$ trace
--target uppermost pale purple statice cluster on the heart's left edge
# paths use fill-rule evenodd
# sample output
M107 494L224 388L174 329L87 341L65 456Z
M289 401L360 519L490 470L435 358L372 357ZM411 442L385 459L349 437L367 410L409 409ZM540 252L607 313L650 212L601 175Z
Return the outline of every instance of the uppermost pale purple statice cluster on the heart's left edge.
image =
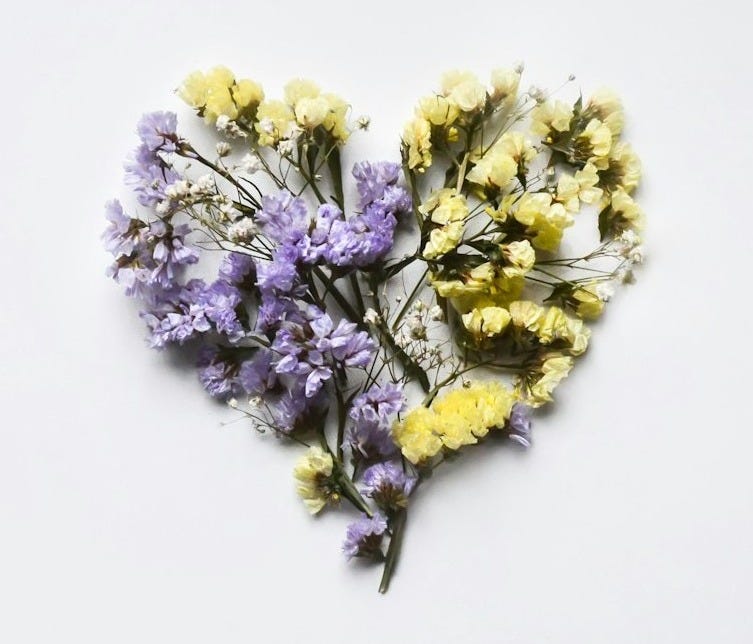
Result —
M145 114L136 131L141 143L126 163L126 183L131 186L142 206L166 209L167 187L181 175L167 160L178 146L178 120L173 112Z

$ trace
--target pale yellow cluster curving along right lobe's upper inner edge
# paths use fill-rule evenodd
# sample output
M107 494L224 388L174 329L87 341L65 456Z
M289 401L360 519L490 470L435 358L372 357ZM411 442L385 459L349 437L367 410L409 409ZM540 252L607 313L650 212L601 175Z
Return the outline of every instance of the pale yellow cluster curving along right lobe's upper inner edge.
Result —
M490 88L471 72L447 72L439 93L422 98L414 118L405 125L403 157L408 167L424 172L432 164L435 145L457 141L458 125L482 113L509 110L517 100L519 84L519 69L495 69Z

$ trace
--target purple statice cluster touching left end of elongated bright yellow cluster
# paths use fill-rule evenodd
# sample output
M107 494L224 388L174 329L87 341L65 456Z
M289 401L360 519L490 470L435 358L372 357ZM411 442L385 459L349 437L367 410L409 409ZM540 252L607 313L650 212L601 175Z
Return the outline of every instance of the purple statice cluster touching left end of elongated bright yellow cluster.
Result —
M356 461L374 462L394 456L391 417L402 411L405 396L402 387L387 383L373 385L356 396L349 411L351 425L345 437Z

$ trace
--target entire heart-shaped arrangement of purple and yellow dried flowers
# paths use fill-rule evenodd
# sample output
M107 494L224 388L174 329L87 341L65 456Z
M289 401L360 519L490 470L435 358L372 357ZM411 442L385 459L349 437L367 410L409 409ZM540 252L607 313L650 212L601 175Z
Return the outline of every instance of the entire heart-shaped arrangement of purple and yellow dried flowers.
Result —
M300 444L298 494L312 514L358 513L343 551L383 563L382 592L416 488L470 445L530 444L584 320L642 259L619 100L522 93L521 72L445 74L400 163L353 166L352 203L341 150L367 118L310 81L270 100L226 68L195 72L178 94L214 149L146 114L126 164L142 216L106 207L109 274L151 345L194 352L210 395ZM563 251L576 220L593 239Z

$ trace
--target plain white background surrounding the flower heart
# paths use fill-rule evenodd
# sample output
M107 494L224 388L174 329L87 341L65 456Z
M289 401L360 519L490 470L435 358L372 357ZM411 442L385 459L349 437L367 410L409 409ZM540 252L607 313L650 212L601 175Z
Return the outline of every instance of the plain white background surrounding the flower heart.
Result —
M422 3L423 4L423 3ZM753 641L747 3L23 2L0 26L0 641ZM297 452L146 349L102 205L143 111L224 63L316 78L396 157L440 73L609 84L649 257L536 419L414 498L387 596Z

